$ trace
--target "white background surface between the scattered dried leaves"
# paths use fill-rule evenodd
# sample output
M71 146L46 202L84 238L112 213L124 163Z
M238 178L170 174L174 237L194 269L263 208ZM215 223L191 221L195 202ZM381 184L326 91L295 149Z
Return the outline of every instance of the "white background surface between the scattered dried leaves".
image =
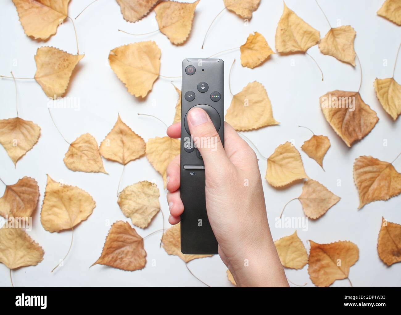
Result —
M91 0L71 1L69 15L72 17L83 9ZM376 12L383 0L320 0L330 23L336 27L350 24L356 30L355 50L363 68L363 84L360 94L363 100L377 112L380 120L372 132L362 141L348 148L335 134L324 119L319 107L319 96L328 91L340 89L355 91L358 89L360 74L359 64L353 68L334 57L320 53L318 46L308 52L316 59L324 72L321 81L320 72L314 62L304 54L290 56L273 55L270 60L255 69L243 68L239 50L221 54L217 57L225 61L225 109L231 95L228 75L233 59L237 61L231 74L231 90L237 93L249 82L257 80L267 89L273 107L274 118L279 126L245 132L264 156L269 156L274 149L286 141L294 140L300 146L312 134L298 125L306 125L315 134L330 138L323 165L320 166L300 150L308 176L328 187L341 197L341 201L332 207L317 221L309 221L308 231L298 229L298 235L309 251L308 239L317 243L331 243L349 240L358 245L360 256L350 269L350 279L355 287L360 286L400 286L401 264L387 267L377 254L377 237L381 226L381 217L390 222L401 223L401 197L389 201L370 203L357 211L358 192L352 179L354 159L360 155L372 155L382 161L391 162L401 151L401 119L393 122L383 110L376 98L373 81L376 77L392 76L395 54L400 43L399 26L377 16ZM316 2L313 0L287 0L286 4L311 26L320 31L323 37L329 30L328 23ZM108 65L109 51L117 46L141 40L154 40L162 51L160 74L180 76L181 61L184 58L206 58L221 50L239 47L245 43L249 33L260 32L269 45L275 49L275 30L282 15L281 0L262 0L249 25L233 12L223 12L213 24L207 37L205 48L201 50L203 36L207 27L223 9L223 1L201 0L196 8L192 32L182 46L174 46L160 32L146 36L130 36L117 29L132 33L146 33L156 30L154 12L151 12L135 24L126 22L120 8L113 0L99 0L90 6L76 21L80 53L85 57L79 62L71 78L66 96L80 98L81 109L53 109L57 126L72 142L86 132L95 136L100 143L117 120L117 113L136 133L145 140L155 136L165 136L165 127L154 118L138 116L137 113L154 114L166 124L174 117L177 94L170 83L171 79L159 78L152 91L144 100L135 98L127 92L124 84L117 78ZM57 34L47 42L38 42L28 38L23 30L14 4L2 1L0 29L0 74L10 75L12 70L18 77L33 77L36 71L34 54L41 46L49 45L76 54L75 35L71 21L65 20L59 26ZM384 60L388 66L384 66ZM292 62L294 66L292 66ZM15 64L16 63L16 64ZM395 79L401 81L401 60L395 72ZM180 78L174 84L180 88ZM0 118L16 116L14 82L0 80ZM145 239L147 265L141 271L122 271L106 266L89 266L97 260L105 237L109 230L107 223L117 220L130 221L122 214L116 201L118 181L123 166L103 159L109 175L102 173L73 172L63 163L68 145L57 132L47 109L47 97L34 80L18 80L18 102L20 117L32 120L41 127L38 143L17 163L16 169L3 147L0 147L0 177L7 184L14 184L24 176L30 176L38 182L41 196L38 209L33 215L33 229L29 235L45 250L44 260L35 267L13 271L16 286L203 286L186 270L184 262L177 256L169 256L159 248L161 233ZM387 139L388 146L383 146ZM294 229L276 229L274 219L279 216L284 204L302 192L302 184L296 184L285 190L277 190L264 179L267 163L259 154L259 167L263 178L263 188L267 204L267 214L273 239L290 235ZM401 159L394 163L401 171ZM46 186L46 174L56 181L78 186L87 191L96 201L93 214L75 229L74 243L62 268L54 273L50 271L64 257L68 250L71 232L49 233L40 223L40 209ZM338 179L341 186L337 186ZM160 203L168 227L168 205L163 190L162 177L152 168L146 157L132 161L126 166L121 189L138 181L153 181L160 189ZM4 191L0 186L0 194ZM285 211L289 216L303 216L298 201L293 201ZM162 228L162 216L158 214L146 230L136 228L143 237ZM152 266L152 260L156 266ZM188 267L203 281L215 286L231 286L227 281L227 268L219 256L191 261ZM297 284L308 283L308 266L302 270L286 270L288 279ZM0 264L0 285L10 286L8 269ZM347 280L336 281L333 286L348 287Z

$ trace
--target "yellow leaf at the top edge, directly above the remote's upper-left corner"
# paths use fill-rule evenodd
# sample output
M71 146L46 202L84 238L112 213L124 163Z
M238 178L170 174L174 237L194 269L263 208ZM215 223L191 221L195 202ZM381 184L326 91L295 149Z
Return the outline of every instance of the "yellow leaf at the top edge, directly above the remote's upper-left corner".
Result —
M188 38L198 3L199 0L193 3L163 1L154 8L159 30L172 44L182 44Z

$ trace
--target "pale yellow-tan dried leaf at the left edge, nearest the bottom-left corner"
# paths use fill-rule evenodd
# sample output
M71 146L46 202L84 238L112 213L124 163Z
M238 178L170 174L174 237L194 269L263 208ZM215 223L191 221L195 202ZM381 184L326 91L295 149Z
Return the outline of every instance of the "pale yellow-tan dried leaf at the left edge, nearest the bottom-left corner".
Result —
M0 263L10 269L36 266L43 261L45 252L21 228L0 229Z

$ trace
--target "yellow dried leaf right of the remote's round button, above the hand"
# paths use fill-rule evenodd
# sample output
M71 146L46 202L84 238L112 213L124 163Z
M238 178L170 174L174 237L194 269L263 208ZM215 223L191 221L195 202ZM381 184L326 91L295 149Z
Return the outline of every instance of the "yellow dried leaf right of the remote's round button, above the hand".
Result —
M241 92L233 96L225 120L239 131L279 124L273 118L265 87L257 81L248 83Z

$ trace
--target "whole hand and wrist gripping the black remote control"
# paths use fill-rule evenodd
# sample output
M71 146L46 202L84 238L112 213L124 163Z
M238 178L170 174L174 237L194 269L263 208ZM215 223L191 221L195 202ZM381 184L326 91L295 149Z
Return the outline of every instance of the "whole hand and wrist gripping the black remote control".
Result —
M224 148L211 119L201 108L188 113L188 126L205 163L207 215L219 243L219 255L238 286L288 286L267 222L257 158L225 122ZM180 138L181 123L168 127ZM213 139L212 141L210 139ZM202 145L201 145L201 141ZM211 144L205 145L205 144ZM170 224L180 222L180 156L167 167Z

